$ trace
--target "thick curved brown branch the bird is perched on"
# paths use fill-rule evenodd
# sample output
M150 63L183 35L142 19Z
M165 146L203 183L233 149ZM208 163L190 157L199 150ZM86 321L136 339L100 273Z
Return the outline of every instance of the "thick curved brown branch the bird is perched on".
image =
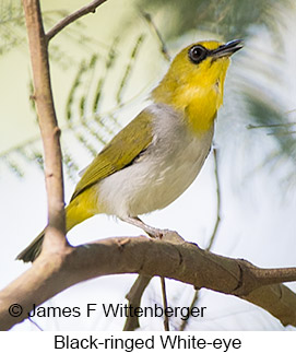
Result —
M264 308L284 326L296 326L296 294L280 284L295 281L296 268L260 269L245 260L202 250L192 243L140 236L67 247L50 256L43 252L29 270L0 292L0 329L22 321L33 304L40 305L75 283L116 273L166 276L232 294ZM15 303L23 308L17 318L8 311Z

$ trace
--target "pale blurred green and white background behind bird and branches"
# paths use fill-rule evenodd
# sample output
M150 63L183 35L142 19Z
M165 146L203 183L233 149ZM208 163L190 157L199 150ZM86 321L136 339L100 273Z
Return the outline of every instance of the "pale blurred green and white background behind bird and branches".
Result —
M40 1L46 30L87 3ZM182 47L241 38L233 57L211 153L193 185L171 205L143 216L215 254L263 268L296 266L296 4L293 0L108 0L50 43L52 90L64 158L66 201L85 167L145 105ZM43 149L20 1L0 0L0 287L27 264L15 256L46 224ZM72 245L141 232L106 215L68 235ZM213 242L211 242L211 238ZM127 303L135 275L111 275L68 289L44 306ZM296 290L296 285L287 284ZM167 280L168 305L206 306L179 330L292 330L247 302ZM194 296L196 295L196 296ZM161 304L152 280L142 304ZM37 323L37 325L35 325ZM13 330L121 330L123 318L37 318ZM161 319L141 319L162 330Z

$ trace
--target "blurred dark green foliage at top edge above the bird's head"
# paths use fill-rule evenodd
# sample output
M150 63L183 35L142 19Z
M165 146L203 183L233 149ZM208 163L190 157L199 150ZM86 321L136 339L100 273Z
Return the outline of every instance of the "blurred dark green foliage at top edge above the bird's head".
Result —
M282 1L288 2L288 1ZM166 17L166 38L188 31L205 31L225 38L245 38L251 25L270 25L269 10L276 0L140 0L145 11L162 12Z

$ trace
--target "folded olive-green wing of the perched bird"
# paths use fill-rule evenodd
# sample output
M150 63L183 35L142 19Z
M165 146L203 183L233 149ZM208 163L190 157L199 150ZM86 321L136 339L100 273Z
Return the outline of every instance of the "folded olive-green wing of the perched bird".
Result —
M71 201L85 189L128 166L152 141L152 117L143 110L99 152L85 169Z

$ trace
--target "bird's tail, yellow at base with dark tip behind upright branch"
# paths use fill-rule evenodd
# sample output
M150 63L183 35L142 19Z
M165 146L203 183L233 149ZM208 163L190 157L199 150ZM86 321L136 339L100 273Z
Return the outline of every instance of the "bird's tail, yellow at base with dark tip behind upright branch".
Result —
M73 226L90 219L97 213L97 199L93 197L93 193L84 192L78 196L66 208L66 228L69 232ZM42 252L45 230L22 251L17 255L16 260L23 260L24 262L33 262Z

